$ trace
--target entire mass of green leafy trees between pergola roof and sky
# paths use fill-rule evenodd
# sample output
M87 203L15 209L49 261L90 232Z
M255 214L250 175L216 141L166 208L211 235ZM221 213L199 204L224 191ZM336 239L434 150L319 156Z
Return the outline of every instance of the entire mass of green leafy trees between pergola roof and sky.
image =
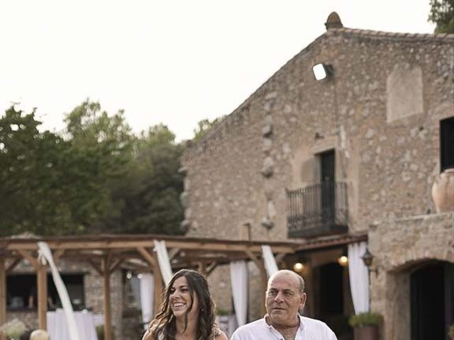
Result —
M0 235L180 232L182 146L165 125L135 136L89 100L65 123L60 136L34 111L0 117Z

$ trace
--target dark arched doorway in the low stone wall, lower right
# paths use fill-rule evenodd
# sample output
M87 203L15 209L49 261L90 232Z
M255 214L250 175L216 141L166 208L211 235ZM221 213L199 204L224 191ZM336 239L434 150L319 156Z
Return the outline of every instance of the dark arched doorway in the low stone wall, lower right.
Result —
M421 263L409 281L411 340L448 339L454 322L454 263Z

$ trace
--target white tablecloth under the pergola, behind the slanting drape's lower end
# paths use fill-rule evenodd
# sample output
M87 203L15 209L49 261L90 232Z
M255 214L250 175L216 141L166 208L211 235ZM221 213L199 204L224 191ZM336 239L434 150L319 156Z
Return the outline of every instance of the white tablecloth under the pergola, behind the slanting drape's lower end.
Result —
M82 311L74 312L76 319L77 331L79 331L80 340L97 340L96 328L94 326L94 317L92 312ZM63 310L56 310L55 312L48 312L48 333L52 340L68 340L68 327L66 322L65 312Z

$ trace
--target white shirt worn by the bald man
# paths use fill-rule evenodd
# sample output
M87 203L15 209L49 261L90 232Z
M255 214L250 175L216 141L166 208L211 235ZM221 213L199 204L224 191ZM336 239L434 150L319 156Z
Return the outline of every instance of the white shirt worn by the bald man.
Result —
M250 324L245 324L233 332L231 340L275 339L284 340L284 336L267 324L266 317ZM299 327L295 340L337 340L336 334L320 320L299 315Z

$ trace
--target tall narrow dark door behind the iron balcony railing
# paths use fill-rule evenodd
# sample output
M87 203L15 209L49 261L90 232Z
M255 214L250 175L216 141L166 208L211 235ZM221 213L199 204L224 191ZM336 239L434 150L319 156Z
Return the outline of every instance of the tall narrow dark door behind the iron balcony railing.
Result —
M319 154L320 157L320 184L321 184L321 210L324 221L333 220L336 193L335 188L335 159L334 150Z

